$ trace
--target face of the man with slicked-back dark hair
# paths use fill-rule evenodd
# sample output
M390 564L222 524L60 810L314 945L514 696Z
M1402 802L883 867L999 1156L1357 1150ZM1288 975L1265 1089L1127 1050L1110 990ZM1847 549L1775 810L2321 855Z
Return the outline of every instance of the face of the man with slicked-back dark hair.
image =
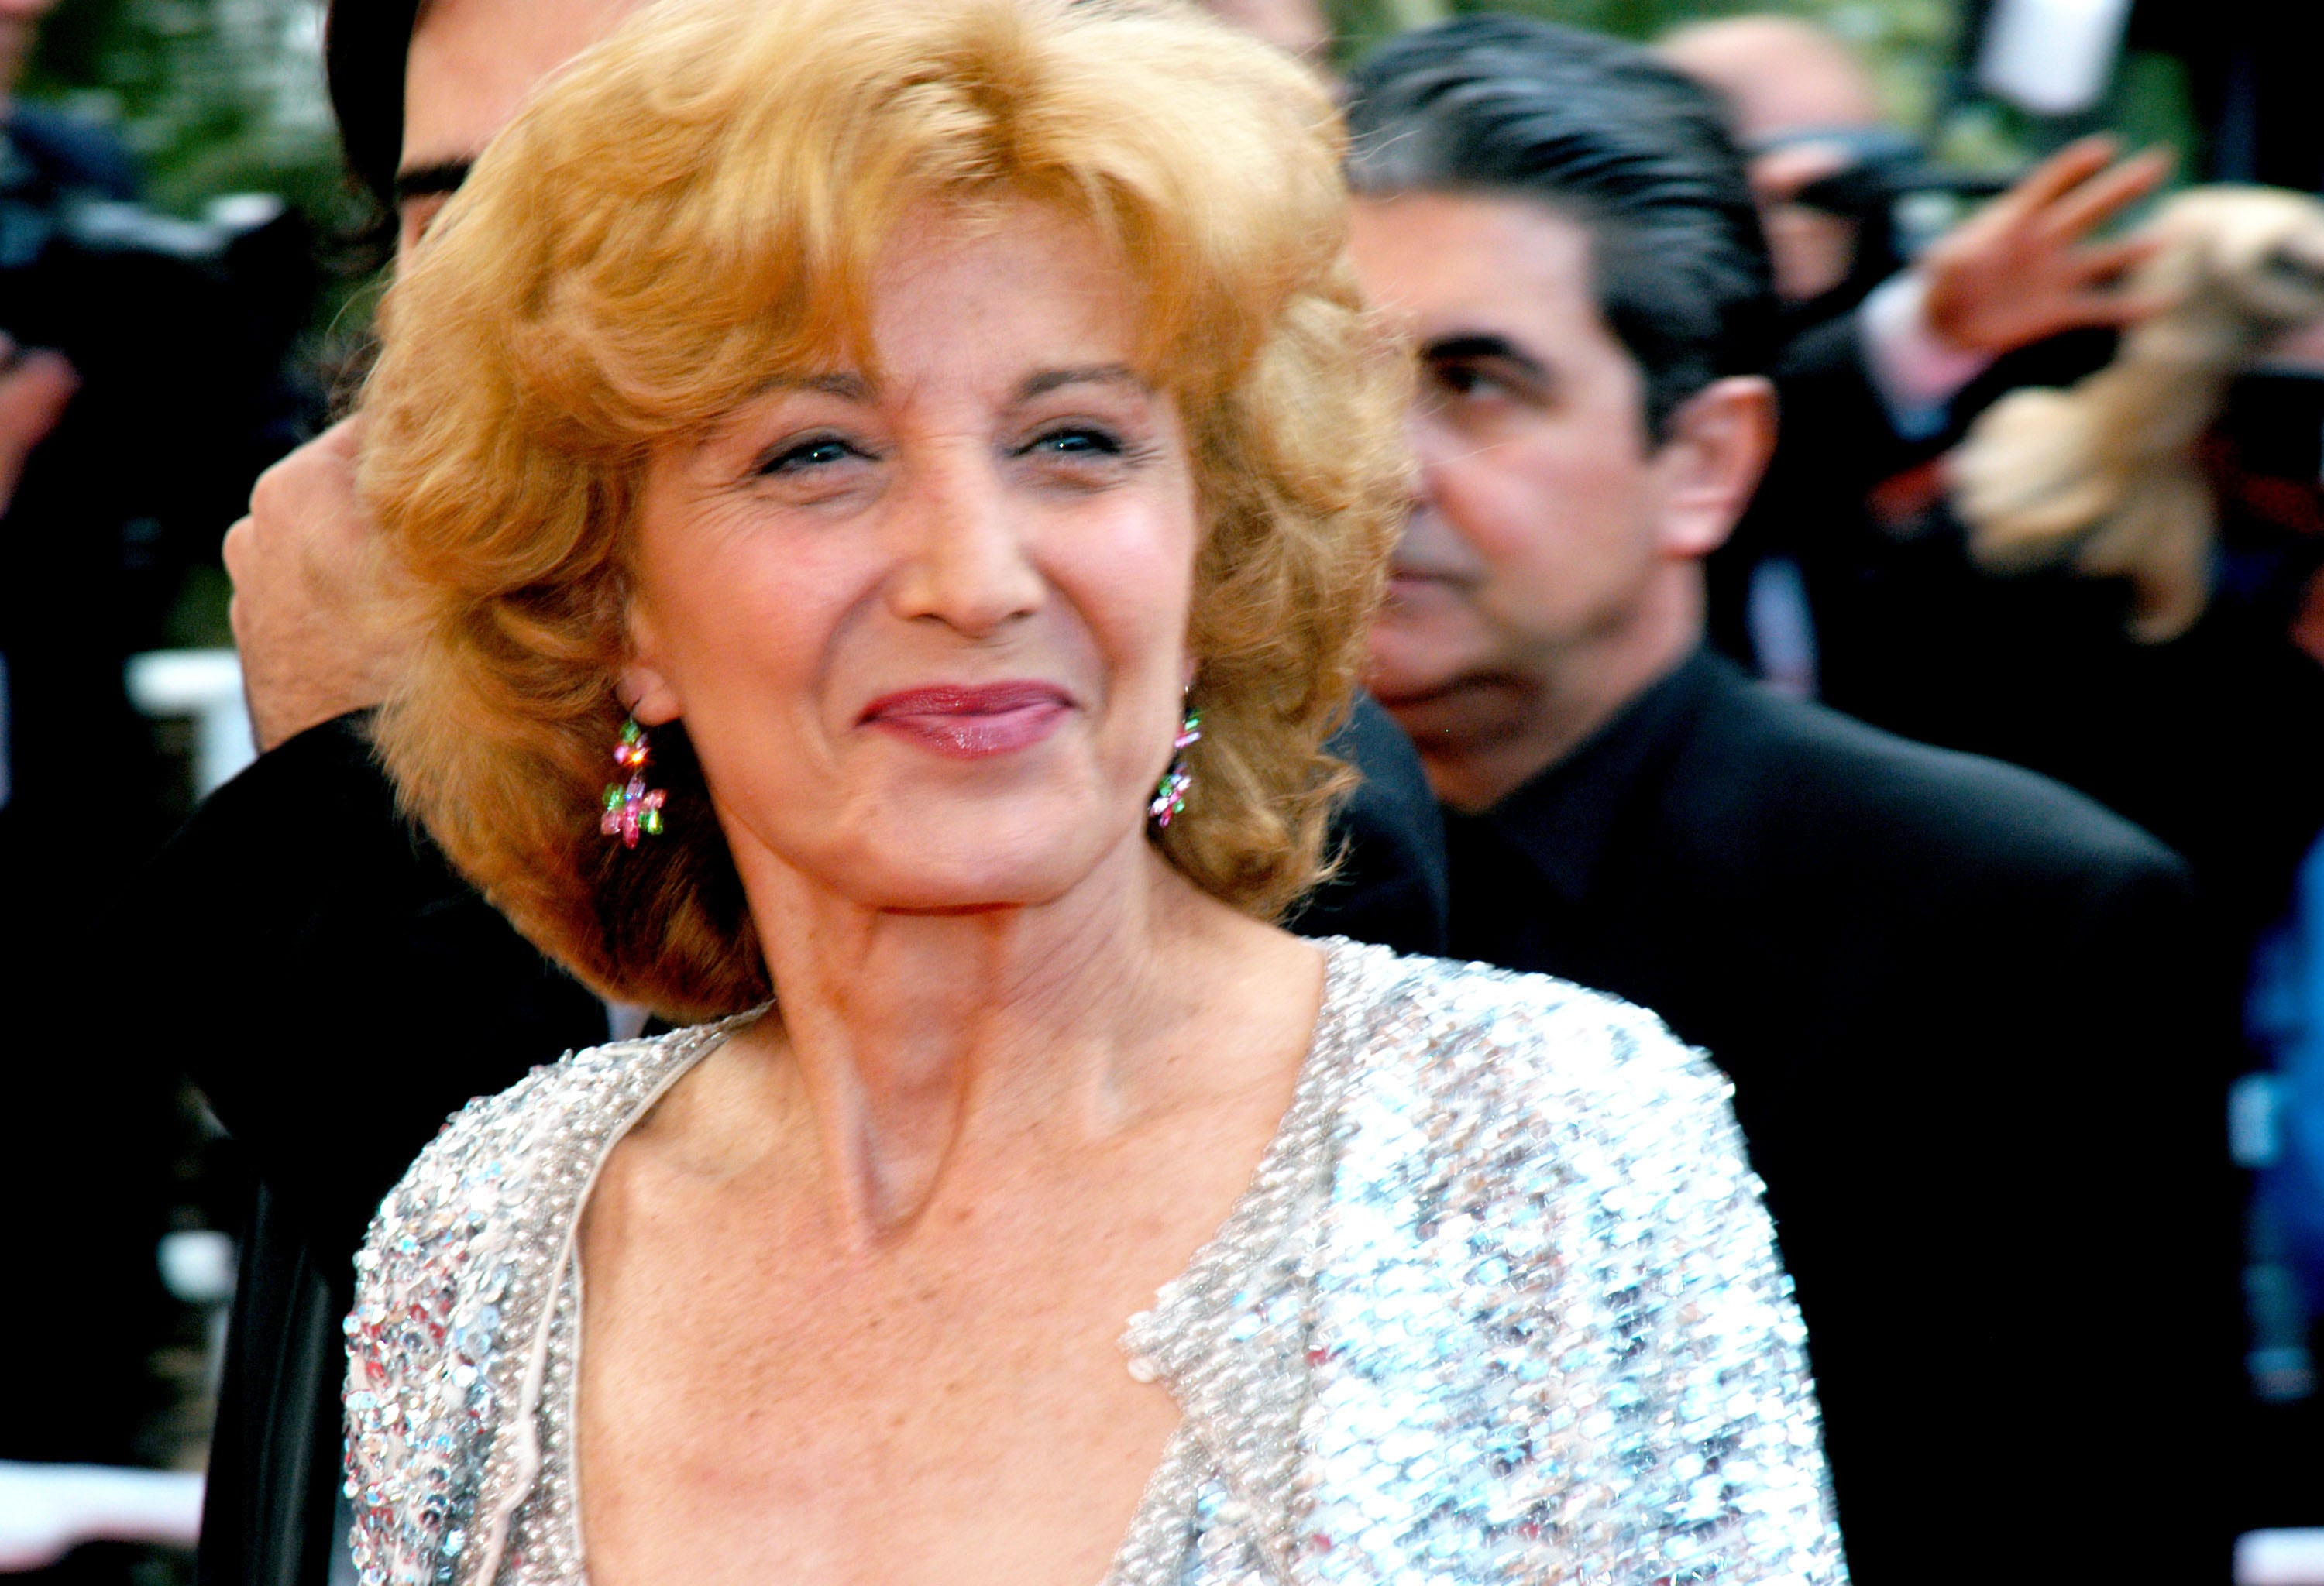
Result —
M1369 685L1422 752L1522 734L1662 562L1645 381L1599 311L1590 232L1538 202L1367 197L1350 244L1420 358L1413 509Z

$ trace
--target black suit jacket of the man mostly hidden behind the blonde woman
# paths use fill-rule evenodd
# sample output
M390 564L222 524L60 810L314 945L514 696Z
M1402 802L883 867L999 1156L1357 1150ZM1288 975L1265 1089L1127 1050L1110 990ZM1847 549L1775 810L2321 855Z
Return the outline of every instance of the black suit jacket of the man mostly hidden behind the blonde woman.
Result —
M1413 745L1360 699L1332 748L1364 785L1334 827L1341 868L1294 929L1441 952L1443 827ZM221 787L128 929L160 975L153 1054L184 1064L256 1170L198 1579L321 1586L363 1231L446 1115L604 1040L607 1010L395 813L360 718Z

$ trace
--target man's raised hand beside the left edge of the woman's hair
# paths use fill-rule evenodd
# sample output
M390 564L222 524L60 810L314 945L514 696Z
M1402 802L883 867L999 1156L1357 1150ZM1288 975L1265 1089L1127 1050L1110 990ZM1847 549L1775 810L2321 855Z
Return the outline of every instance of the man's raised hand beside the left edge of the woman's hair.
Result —
M251 516L225 534L235 646L260 750L381 704L409 655L379 529L356 497L360 444L358 413L300 446L258 476Z

